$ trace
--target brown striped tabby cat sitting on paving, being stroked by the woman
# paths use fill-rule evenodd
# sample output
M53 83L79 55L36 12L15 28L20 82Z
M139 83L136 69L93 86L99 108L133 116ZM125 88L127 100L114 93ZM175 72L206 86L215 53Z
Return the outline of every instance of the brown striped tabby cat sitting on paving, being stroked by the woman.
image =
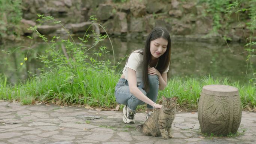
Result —
M152 135L153 137L162 135L162 138L165 140L168 137L173 138L173 135L171 135L171 124L176 115L176 99L176 97L163 97L162 108L155 110L143 125L136 126L137 131L142 132L144 135Z

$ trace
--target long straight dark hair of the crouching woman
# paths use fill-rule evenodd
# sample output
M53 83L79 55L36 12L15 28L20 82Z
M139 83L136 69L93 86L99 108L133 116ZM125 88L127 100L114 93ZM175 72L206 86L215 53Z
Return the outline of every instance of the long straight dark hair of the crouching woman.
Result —
M171 38L169 32L162 27L155 27L147 36L144 52L143 52L143 83L144 83L144 90L146 92L149 91L149 79L148 79L148 65L149 62L152 60L152 56L150 53L150 42L152 40L163 38L168 41L167 49L163 55L161 55L158 59L158 64L156 69L162 74L168 67L171 59Z

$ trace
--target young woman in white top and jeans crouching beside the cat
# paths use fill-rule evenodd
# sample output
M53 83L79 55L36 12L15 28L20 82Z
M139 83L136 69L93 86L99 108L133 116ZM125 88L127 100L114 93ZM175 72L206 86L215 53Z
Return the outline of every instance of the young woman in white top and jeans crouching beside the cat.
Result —
M170 34L165 28L154 28L147 37L144 50L135 50L125 64L123 74L115 87L116 102L124 104L123 121L135 122L137 105L147 104L146 119L156 104L158 89L167 85L167 72L171 57Z

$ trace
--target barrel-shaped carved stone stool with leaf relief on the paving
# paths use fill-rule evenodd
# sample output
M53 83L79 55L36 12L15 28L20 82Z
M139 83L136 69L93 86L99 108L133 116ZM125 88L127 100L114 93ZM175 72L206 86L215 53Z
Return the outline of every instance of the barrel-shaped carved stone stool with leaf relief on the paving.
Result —
M227 85L202 88L198 103L198 120L202 133L226 136L236 133L241 122L241 100L238 89Z

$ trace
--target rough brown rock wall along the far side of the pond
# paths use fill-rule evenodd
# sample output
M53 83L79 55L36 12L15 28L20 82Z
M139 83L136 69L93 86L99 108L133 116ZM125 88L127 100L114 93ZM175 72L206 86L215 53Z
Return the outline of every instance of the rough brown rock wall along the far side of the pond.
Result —
M113 3L112 0L22 0L23 19L21 35L29 35L27 28L34 26L37 14L51 15L67 28L70 33L85 33L91 24L89 17L95 15L111 36L126 39L143 39L153 27L166 27L174 40L203 42L224 42L226 35L232 41L243 41L249 30L243 17L242 24L234 16L227 21L222 17L221 24L228 28L213 33L213 18L206 14L207 6L198 0L129 0L126 3ZM44 35L64 34L60 25L43 24L38 31ZM105 33L100 28L100 33ZM256 32L255 32L256 34Z

